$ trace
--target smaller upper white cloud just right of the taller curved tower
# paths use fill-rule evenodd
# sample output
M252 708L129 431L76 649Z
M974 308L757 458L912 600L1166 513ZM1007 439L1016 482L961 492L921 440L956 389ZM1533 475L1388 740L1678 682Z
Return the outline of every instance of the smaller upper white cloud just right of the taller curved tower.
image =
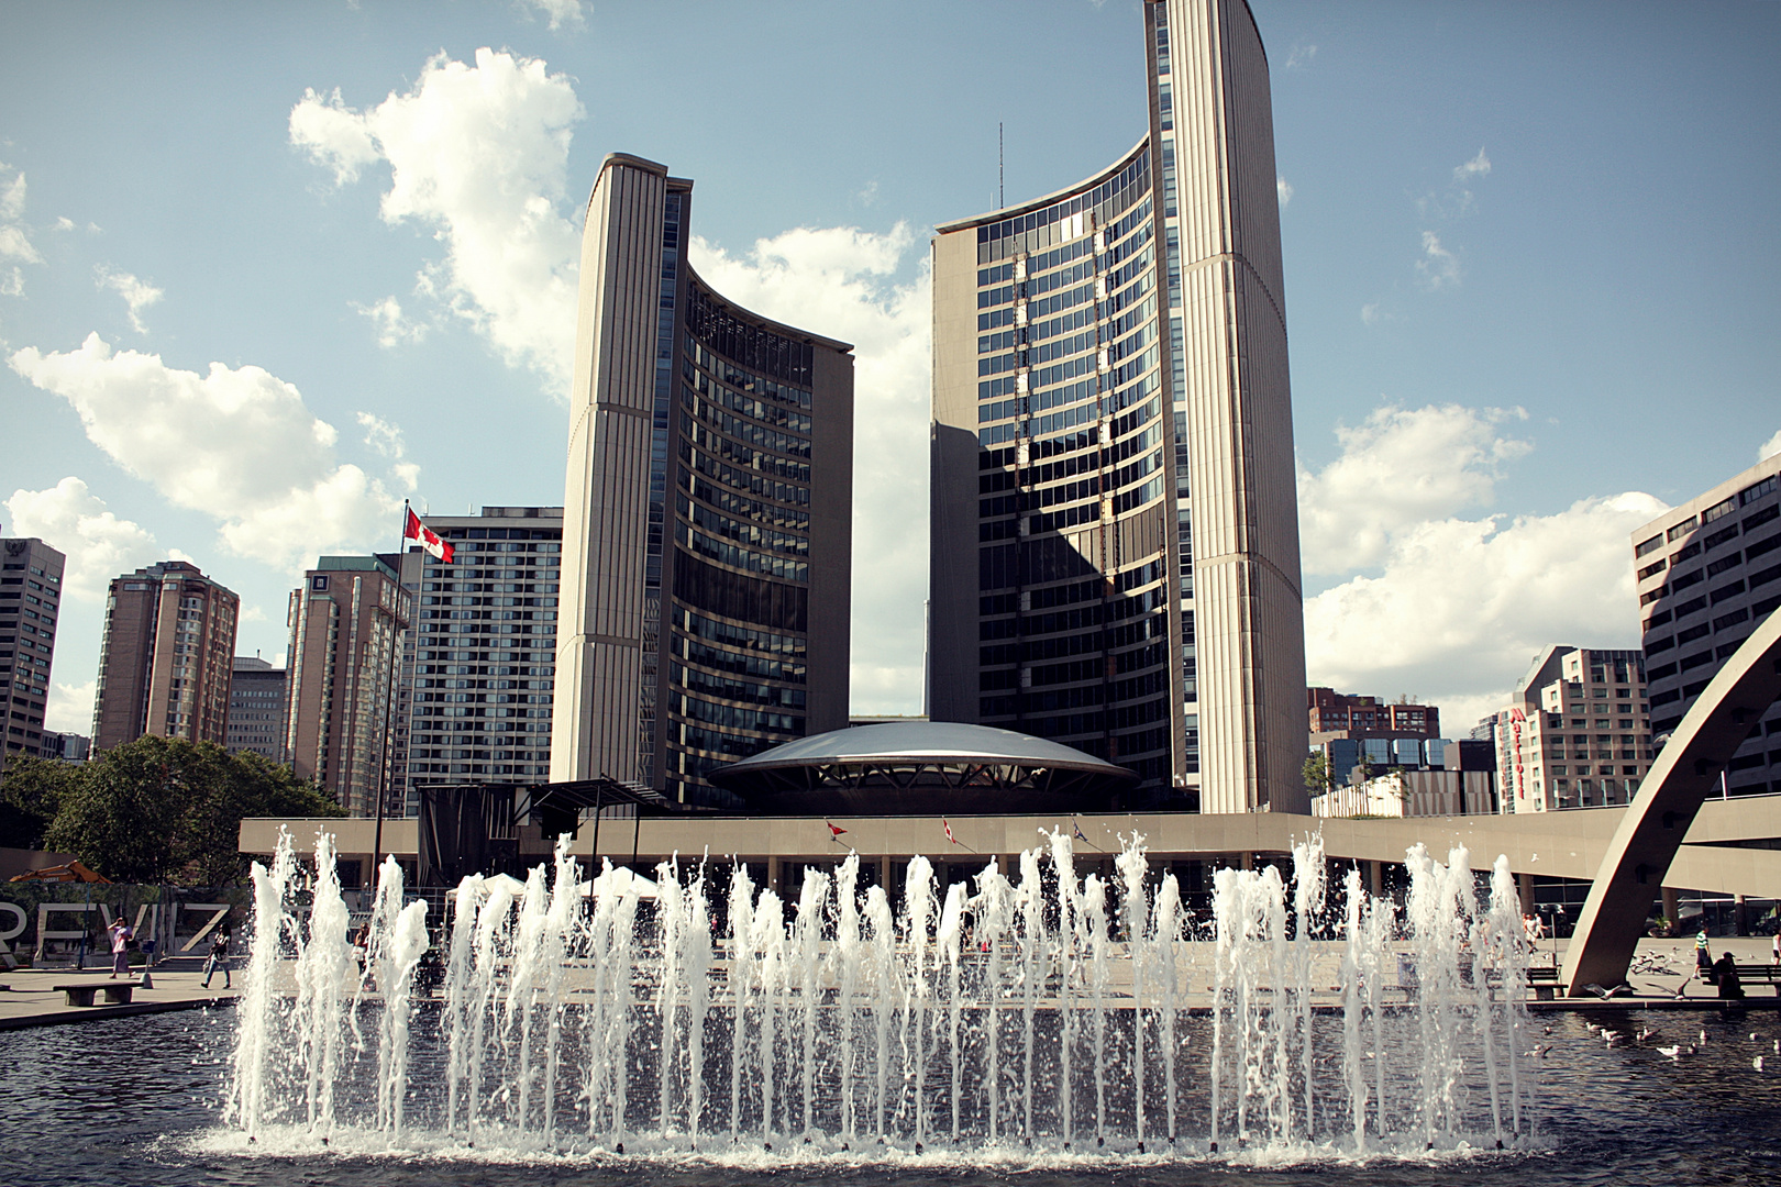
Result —
M1341 456L1316 473L1298 470L1304 571L1377 566L1403 529L1487 507L1503 463L1532 448L1501 425L1525 418L1519 408L1387 404L1355 429L1338 427Z

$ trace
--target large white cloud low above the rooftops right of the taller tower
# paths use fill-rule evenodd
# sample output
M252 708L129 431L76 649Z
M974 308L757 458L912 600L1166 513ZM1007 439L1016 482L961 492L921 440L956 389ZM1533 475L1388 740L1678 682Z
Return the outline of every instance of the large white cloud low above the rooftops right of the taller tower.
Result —
M1651 495L1585 498L1549 516L1430 520L1391 537L1384 569L1305 600L1311 683L1418 692L1452 735L1500 708L1555 642L1639 646L1626 539Z

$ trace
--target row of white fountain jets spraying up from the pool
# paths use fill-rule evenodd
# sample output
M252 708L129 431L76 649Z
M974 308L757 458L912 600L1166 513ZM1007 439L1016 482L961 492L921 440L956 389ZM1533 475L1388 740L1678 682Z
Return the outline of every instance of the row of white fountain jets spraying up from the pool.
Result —
M1411 849L1400 934L1359 872L1329 893L1316 836L1288 870L1218 870L1199 924L1143 836L1113 881L1078 877L1061 831L1044 840L1015 877L990 860L944 893L917 856L899 911L860 890L853 854L787 904L744 865L586 879L563 840L524 883L463 879L431 936L392 860L360 968L331 838L299 904L285 836L253 870L228 1121L297 1150L525 1155L1094 1137L1149 1157L1377 1157L1532 1137L1503 860L1480 895L1464 849ZM436 1000L415 988L429 943Z

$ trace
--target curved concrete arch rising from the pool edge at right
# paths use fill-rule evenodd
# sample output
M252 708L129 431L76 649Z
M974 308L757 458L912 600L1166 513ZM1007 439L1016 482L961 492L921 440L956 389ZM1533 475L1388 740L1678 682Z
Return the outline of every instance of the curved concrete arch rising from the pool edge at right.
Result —
M1626 979L1651 899L1683 835L1706 797L1719 790L1719 772L1733 751L1776 698L1781 698L1781 612L1770 614L1719 669L1621 817L1565 954L1560 981L1569 993Z

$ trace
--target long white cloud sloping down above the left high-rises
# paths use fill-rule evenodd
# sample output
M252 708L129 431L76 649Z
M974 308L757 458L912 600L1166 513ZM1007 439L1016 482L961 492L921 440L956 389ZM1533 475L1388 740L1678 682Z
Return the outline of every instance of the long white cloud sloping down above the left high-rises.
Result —
M381 480L335 457L333 425L260 367L212 363L199 375L159 354L114 352L96 333L78 351L25 347L9 363L66 399L125 470L216 516L239 555L301 571L319 552L379 543L395 513Z

